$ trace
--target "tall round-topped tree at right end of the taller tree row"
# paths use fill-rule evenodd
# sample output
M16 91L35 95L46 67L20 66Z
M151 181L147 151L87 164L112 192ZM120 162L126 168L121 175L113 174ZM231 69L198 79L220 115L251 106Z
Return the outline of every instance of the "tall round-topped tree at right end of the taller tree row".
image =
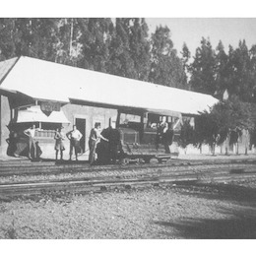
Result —
M186 74L173 48L170 31L158 27L152 34L152 65L149 81L167 87L186 89Z

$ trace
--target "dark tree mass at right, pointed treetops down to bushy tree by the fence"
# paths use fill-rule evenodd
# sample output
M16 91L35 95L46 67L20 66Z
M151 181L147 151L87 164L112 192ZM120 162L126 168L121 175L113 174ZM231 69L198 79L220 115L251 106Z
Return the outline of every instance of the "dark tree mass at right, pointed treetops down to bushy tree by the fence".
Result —
M215 153L215 145L224 143L230 134L237 134L238 138L245 129L250 133L250 144L255 147L256 45L248 49L245 40L240 40L237 48L229 45L225 52L221 40L214 49L210 39L203 37L193 59L186 44L181 53L183 67L190 78L189 88L221 99L211 112L205 111L196 117L192 136L183 132L183 141L192 140L197 146L207 143ZM190 131L190 127L182 129ZM238 140L235 143L238 145Z

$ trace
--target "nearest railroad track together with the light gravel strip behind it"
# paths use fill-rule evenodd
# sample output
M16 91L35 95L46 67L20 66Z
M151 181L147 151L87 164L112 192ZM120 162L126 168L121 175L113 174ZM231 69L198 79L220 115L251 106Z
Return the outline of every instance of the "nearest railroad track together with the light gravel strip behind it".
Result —
M149 167L151 166L151 167ZM125 166L125 169L113 169L111 166L96 167L84 172L80 177L58 177L49 180L7 181L0 184L2 197L36 195L47 192L68 191L84 193L105 191L113 188L129 189L179 182L230 182L236 180L256 180L256 164L253 161L226 162L209 164L173 164ZM103 171L104 170L104 171ZM78 170L79 171L79 170ZM11 173L11 172L10 172ZM44 175L47 173L43 172ZM30 177L29 175L27 176Z

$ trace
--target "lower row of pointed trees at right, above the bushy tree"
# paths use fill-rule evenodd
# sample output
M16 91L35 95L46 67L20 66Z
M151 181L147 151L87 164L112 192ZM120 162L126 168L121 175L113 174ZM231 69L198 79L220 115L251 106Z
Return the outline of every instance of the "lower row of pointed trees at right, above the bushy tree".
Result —
M202 38L191 60L187 45L183 45L182 60L190 78L189 88L198 93L222 99L226 91L245 102L256 102L256 45L248 49L245 40L237 48L228 46L225 53L220 40L216 49L210 39Z

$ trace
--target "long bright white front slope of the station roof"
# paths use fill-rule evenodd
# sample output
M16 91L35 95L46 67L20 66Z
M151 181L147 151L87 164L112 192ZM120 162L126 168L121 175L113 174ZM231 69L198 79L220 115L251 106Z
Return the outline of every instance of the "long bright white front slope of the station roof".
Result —
M38 99L85 102L198 114L218 102L213 96L21 57L2 89Z

